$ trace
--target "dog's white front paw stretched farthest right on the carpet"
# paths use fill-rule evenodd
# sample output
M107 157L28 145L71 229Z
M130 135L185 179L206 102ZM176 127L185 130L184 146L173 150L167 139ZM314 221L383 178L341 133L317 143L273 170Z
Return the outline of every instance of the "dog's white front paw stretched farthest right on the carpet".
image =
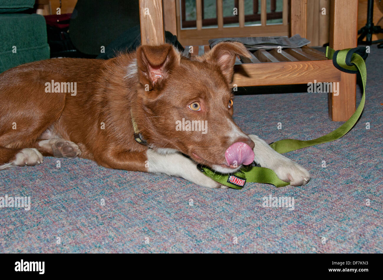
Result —
M272 169L278 178L290 182L291 186L302 186L310 180L310 174L306 169L287 158L278 162Z

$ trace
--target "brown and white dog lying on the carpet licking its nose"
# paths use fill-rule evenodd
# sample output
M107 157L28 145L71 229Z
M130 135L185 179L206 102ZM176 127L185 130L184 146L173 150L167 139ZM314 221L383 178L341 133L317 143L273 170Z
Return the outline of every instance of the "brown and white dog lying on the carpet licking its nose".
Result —
M43 155L80 156L108 168L166 173L219 188L196 163L231 173L255 153L255 161L282 180L306 183L304 168L232 120L229 84L237 55L247 51L236 42L193 59L165 44L110 60L55 58L5 71L0 169L36 165Z

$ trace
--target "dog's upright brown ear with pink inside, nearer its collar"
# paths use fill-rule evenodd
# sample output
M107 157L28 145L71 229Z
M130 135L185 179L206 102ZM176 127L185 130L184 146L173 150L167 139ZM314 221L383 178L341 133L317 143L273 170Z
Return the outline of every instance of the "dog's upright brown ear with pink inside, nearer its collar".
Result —
M158 88L167 78L169 72L180 64L180 54L172 45L143 45L137 49L137 66L139 82L149 89Z

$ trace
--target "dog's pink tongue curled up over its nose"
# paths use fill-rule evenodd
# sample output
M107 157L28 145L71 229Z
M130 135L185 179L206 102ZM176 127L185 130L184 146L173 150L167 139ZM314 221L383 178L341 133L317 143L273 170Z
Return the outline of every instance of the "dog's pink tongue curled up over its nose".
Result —
M249 145L243 142L236 142L226 150L225 158L229 166L247 165L253 162L254 152Z

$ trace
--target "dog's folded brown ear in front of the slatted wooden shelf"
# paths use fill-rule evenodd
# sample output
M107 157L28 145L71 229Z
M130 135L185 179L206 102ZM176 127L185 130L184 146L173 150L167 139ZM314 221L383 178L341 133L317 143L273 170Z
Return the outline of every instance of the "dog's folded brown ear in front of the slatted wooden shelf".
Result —
M246 47L240 42L221 42L210 52L201 57L202 61L218 64L227 83L231 82L234 74L234 64L237 55L250 58Z

